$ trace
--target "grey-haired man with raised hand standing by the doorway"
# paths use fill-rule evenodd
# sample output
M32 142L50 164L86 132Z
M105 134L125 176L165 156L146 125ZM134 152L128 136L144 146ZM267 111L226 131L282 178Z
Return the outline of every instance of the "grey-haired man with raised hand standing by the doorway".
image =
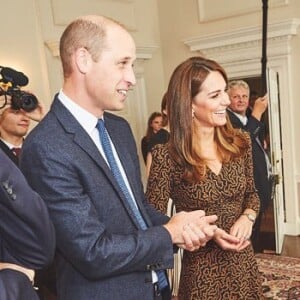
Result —
M252 157L254 182L260 199L260 212L253 227L251 241L255 252L261 252L260 225L264 212L271 201L271 164L265 151L265 124L261 121L263 113L268 107L268 97L258 97L254 102L250 114L249 95L250 88L243 80L230 81L228 85L230 105L227 113L231 124L250 133L252 140Z

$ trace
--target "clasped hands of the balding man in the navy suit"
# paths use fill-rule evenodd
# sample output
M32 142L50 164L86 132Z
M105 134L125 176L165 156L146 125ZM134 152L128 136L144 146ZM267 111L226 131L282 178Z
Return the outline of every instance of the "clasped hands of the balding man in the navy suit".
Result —
M205 216L203 210L180 212L174 215L164 227L169 231L173 244L195 251L214 236L217 226L213 223L216 220L216 215Z

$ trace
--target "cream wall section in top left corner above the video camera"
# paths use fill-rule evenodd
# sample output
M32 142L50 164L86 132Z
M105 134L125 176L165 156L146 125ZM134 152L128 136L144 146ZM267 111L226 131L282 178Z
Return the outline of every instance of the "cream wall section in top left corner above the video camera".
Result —
M25 89L49 102L49 80L35 1L0 1L0 65L22 71L29 77Z

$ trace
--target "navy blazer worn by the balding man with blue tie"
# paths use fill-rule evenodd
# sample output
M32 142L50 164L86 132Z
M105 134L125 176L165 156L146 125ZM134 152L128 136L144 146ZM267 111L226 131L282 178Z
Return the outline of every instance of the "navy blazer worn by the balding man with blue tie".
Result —
M145 199L129 124L104 119L148 230L138 229L96 145L57 98L26 138L21 169L54 222L59 299L153 299L151 270L173 266L170 235L157 226L168 217Z

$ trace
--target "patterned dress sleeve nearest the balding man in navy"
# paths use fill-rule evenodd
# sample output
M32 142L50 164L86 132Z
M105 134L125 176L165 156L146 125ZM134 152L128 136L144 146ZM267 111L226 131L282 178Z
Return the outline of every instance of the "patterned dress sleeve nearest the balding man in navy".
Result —
M170 176L172 167L166 145L155 146L152 159L146 197L157 210L166 214L172 184Z

